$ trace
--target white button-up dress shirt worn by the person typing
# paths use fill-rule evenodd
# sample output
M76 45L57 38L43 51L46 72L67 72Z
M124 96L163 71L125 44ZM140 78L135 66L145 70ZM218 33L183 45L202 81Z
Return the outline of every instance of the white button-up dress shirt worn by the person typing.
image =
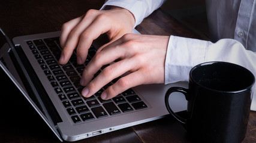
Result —
M126 8L141 23L164 0L109 0L103 5ZM189 71L207 61L227 61L246 67L256 77L256 1L206 0L212 42L170 36L165 57L165 84L188 81ZM214 42L214 43L213 43ZM251 110L256 111L256 84Z

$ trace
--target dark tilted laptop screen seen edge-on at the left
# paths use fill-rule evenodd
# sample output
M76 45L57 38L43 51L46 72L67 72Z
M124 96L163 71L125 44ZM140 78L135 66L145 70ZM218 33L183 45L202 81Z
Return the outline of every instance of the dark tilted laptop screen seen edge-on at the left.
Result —
M45 91L40 88L40 82L31 69L26 57L22 56L23 51L19 47L14 47L10 39L5 35L0 27L0 67L5 71L8 77L13 81L17 88L22 92L25 98L31 103L32 107L40 114L47 125L62 141L58 131L55 128L56 123L62 122L56 114L56 110L49 101ZM32 76L32 77L31 77ZM37 88L35 88L37 87Z

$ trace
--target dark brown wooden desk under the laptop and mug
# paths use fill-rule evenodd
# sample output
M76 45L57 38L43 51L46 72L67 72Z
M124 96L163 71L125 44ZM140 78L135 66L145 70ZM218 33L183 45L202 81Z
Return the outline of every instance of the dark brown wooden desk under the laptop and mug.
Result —
M10 39L15 36L61 30L66 21L85 14L91 8L99 9L103 3L103 0L2 1L0 26ZM146 18L137 26L137 30L142 34L200 38L161 10L156 10ZM2 70L0 76L0 142L59 142ZM186 136L186 130L169 116L77 142L189 142ZM256 142L254 111L251 111L248 131L243 142Z

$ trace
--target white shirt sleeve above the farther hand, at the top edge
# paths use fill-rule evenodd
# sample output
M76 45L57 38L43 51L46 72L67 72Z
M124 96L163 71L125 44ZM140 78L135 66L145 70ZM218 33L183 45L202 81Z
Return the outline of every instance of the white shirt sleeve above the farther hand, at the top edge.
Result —
M134 15L135 26L137 26L145 17L159 8L164 1L165 0L107 0L100 10L107 10L110 5L125 8Z

